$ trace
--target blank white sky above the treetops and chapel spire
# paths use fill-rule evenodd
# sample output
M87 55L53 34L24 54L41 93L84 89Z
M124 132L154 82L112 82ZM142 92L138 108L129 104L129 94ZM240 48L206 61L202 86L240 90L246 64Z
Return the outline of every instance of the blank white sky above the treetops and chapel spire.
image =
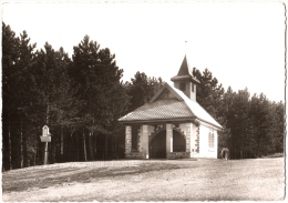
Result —
M70 57L88 34L115 54L123 81L140 71L172 84L186 54L191 68L207 68L225 90L285 100L280 1L100 2L2 1L2 21L17 35L25 30L37 49L49 42Z

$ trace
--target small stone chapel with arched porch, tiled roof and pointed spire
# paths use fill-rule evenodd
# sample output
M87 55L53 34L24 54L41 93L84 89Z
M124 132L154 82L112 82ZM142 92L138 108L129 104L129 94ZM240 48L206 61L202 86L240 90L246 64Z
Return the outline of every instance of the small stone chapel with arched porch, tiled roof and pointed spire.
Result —
M196 101L199 81L186 55L174 85L165 83L150 102L119 122L125 125L126 159L217 159L222 125Z

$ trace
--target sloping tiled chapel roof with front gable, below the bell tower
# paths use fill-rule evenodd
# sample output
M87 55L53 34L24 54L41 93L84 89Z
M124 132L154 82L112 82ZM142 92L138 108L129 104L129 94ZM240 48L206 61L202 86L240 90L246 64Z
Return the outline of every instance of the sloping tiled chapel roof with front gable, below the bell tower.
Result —
M174 97L169 99L160 98L161 93L168 91ZM177 121L179 119L198 119L218 129L222 125L215 121L197 102L192 101L181 90L165 83L152 100L141 108L119 119L120 122L147 122L147 121Z

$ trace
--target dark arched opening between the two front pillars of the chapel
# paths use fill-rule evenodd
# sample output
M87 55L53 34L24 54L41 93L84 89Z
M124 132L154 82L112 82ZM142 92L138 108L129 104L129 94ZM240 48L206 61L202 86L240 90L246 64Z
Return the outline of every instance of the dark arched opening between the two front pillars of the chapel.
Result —
M166 131L160 132L150 142L150 158L166 159Z

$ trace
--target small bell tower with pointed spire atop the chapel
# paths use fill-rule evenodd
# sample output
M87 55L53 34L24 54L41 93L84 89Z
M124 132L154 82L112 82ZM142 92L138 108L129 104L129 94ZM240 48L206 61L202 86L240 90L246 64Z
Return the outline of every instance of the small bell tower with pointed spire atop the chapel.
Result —
M193 77L186 55L184 57L178 74L173 77L171 81L174 82L175 88L183 91L192 101L196 102L196 84L200 82Z

